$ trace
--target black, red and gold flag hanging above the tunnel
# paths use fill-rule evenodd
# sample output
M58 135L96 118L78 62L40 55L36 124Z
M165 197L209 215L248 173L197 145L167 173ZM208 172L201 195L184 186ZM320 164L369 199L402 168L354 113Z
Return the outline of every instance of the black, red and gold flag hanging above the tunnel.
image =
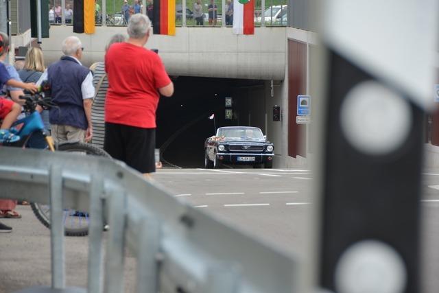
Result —
M154 0L152 30L154 34L176 34L176 0Z

